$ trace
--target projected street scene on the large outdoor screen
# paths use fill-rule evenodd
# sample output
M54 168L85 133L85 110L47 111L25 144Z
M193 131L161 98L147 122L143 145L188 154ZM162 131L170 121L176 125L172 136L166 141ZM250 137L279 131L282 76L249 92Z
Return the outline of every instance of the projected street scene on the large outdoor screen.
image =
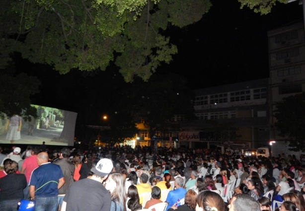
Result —
M77 113L32 105L38 118L13 115L0 119L0 143L74 145Z

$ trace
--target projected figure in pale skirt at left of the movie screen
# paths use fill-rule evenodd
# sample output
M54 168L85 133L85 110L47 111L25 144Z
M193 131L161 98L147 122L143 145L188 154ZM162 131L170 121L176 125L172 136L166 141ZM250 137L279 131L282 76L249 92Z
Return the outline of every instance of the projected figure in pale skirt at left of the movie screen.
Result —
M7 131L6 140L10 140L10 142L13 143L14 141L20 139L20 131L22 126L21 121L22 117L17 114L7 119L4 128L4 130Z

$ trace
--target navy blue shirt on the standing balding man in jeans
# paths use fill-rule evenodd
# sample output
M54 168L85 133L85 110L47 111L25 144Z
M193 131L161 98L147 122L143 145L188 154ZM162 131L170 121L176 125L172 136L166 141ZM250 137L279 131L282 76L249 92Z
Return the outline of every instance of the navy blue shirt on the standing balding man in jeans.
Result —
M44 163L36 168L30 178L30 186L35 186L35 196L53 197L58 195L58 182L64 174L59 165Z

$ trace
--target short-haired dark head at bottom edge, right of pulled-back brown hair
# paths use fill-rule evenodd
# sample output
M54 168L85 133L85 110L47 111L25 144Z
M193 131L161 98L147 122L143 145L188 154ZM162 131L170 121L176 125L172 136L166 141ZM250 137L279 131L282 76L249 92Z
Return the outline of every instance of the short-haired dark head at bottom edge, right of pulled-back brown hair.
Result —
M230 200L229 211L260 211L260 206L251 196L237 194Z

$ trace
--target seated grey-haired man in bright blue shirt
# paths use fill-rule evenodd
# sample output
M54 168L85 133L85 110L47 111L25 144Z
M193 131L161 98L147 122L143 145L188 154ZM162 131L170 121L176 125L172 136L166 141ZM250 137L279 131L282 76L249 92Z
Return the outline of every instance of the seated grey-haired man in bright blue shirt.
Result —
M173 206L178 201L178 199L179 200L184 199L186 190L183 188L183 183L184 183L184 179L182 177L177 177L175 179L176 190L168 192L166 198L166 202L168 205L165 211L167 211L171 206Z

